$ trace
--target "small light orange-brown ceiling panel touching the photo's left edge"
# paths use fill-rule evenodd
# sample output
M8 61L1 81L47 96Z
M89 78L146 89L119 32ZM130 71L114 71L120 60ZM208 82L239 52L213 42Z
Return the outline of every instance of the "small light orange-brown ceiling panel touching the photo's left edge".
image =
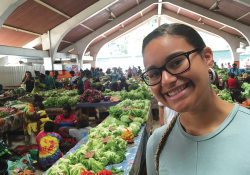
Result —
M11 29L0 29L0 45L22 47L37 38L36 35L23 33Z

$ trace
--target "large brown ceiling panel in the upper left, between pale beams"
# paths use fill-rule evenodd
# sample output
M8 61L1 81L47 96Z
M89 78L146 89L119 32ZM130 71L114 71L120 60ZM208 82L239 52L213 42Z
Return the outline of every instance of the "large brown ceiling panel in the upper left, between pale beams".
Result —
M66 17L33 0L27 0L11 13L4 24L43 34L65 20Z

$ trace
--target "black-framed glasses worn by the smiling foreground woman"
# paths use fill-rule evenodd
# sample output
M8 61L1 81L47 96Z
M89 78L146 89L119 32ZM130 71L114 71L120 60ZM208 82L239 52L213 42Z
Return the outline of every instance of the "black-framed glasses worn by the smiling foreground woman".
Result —
M196 48L189 52L177 55L168 60L162 67L147 70L141 75L141 78L148 86L154 86L161 81L163 70L167 71L171 75L181 74L190 68L189 55L194 52L200 52L203 50L203 48L204 47Z

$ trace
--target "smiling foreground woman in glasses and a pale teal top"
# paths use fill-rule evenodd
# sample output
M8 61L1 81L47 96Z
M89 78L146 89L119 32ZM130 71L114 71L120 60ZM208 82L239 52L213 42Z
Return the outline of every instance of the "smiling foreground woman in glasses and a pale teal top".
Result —
M148 75L156 98L179 113L150 136L147 174L249 174L249 110L215 94L208 76L213 52L200 35L163 24L143 40L142 52L141 77Z

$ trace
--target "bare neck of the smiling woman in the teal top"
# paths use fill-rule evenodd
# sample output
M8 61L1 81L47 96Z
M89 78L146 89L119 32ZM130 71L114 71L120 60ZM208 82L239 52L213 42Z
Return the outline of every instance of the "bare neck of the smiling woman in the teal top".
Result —
M221 100L211 87L206 100L189 112L181 114L180 122L188 134L203 136L216 130L227 118L234 105Z

